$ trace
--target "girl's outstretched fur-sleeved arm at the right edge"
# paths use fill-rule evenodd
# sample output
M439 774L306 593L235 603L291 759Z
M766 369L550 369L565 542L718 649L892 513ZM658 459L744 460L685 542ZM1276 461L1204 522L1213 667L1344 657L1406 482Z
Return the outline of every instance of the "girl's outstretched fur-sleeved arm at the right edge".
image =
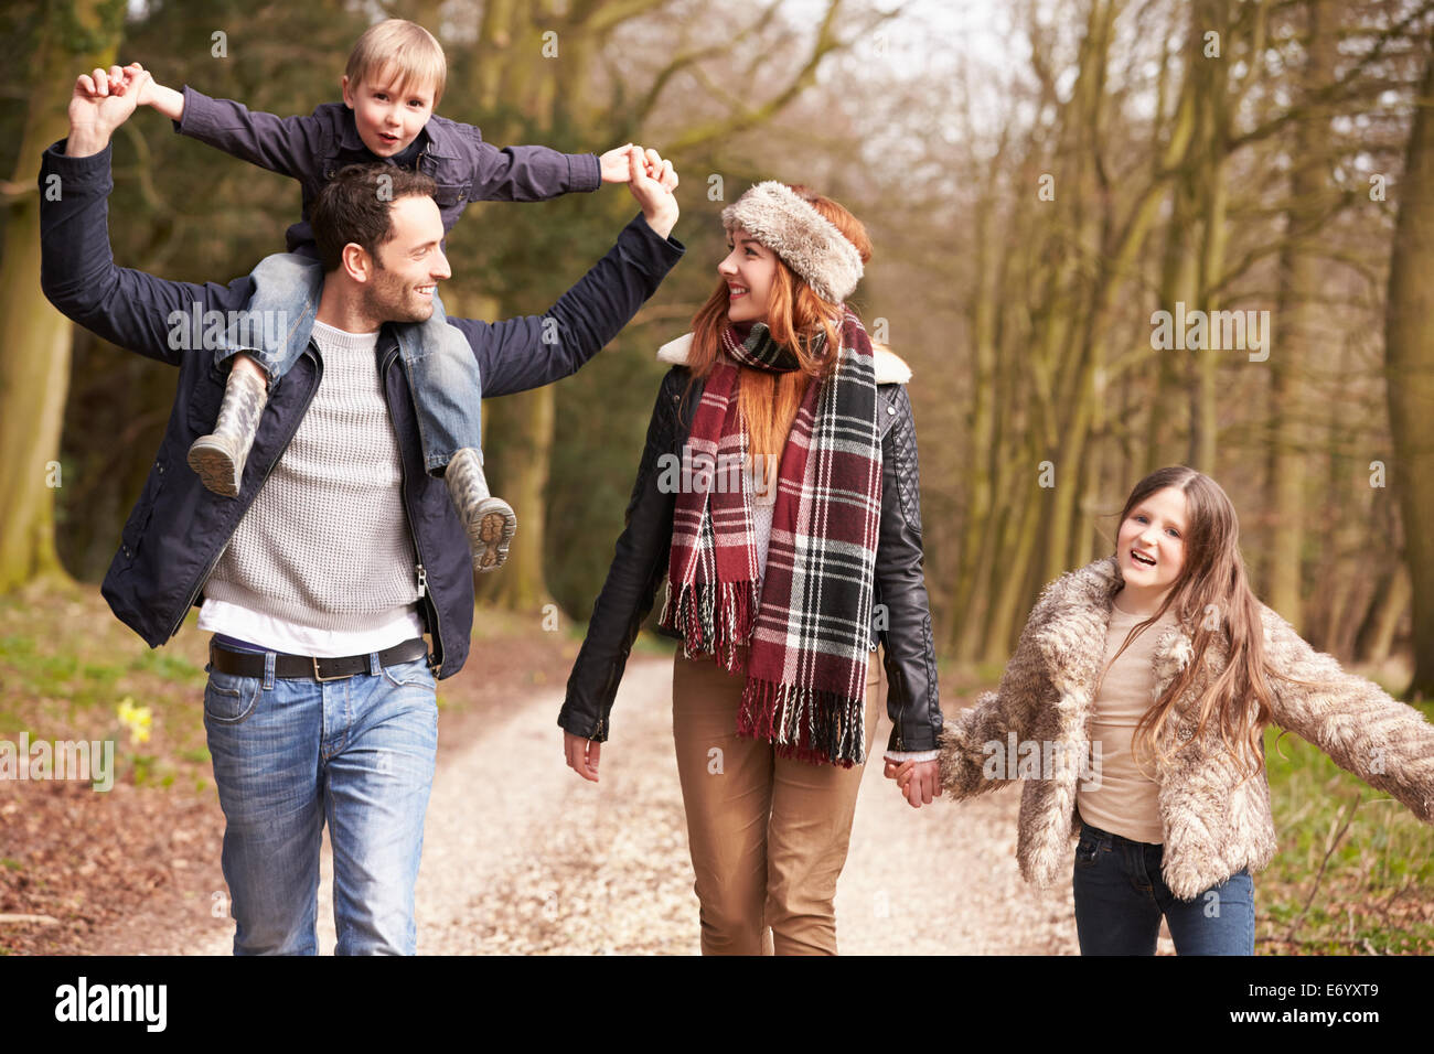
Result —
M1434 823L1434 724L1378 684L1345 673L1332 655L1315 651L1285 619L1260 607L1269 665L1295 678L1269 680L1275 723Z

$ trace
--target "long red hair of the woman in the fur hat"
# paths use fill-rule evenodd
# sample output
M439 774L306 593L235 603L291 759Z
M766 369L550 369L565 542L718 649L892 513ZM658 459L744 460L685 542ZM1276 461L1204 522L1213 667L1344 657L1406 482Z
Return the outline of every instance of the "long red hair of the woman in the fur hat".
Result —
M800 184L789 186L856 247L863 264L872 258L872 242L860 219L830 198L823 198ZM687 353L690 370L687 391L691 391L693 381L706 377L717 364L721 333L730 326L727 304L727 281L718 278L717 288L693 315L693 346ZM786 373L740 367L737 406L747 424L751 453L782 453L807 384L812 380L826 380L836 371L840 326L842 305L816 295L812 287L787 267L782 257L777 257L777 270L767 300L767 328L774 341L796 353L800 367ZM826 340L813 348L817 334ZM685 396L687 393L683 397Z

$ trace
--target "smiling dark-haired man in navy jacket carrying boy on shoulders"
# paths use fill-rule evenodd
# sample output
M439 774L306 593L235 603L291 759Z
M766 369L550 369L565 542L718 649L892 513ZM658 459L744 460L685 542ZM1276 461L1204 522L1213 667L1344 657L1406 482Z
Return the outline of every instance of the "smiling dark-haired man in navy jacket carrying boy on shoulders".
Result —
M313 338L270 397L238 499L219 498L182 470L225 380L188 318L242 308L252 283L195 285L115 265L109 139L145 79L118 66L80 77L70 135L40 171L42 189L54 176L60 188L42 194L46 297L100 337L179 367L163 442L102 591L151 647L199 601L199 627L215 631L204 706L235 954L315 952L326 820L338 954L413 954L435 675L462 670L473 617L467 539L443 480L423 470L391 326L426 317L450 274L433 184L380 165L326 188ZM641 156L631 155L630 189L642 215L545 315L449 320L473 348L483 394L574 373L681 257L670 237L677 179L661 159L661 179L648 178Z

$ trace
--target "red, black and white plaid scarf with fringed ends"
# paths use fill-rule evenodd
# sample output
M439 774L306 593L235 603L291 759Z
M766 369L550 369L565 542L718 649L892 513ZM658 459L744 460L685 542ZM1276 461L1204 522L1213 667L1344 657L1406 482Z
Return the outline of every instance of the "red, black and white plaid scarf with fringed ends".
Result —
M723 350L733 361L718 359L707 377L684 450L691 486L677 495L660 622L683 635L687 657L711 654L731 673L746 670L740 736L850 767L866 760L882 459L870 340L850 311L840 334L836 373L807 386L782 453L759 581L751 493L728 483L749 463L733 361L782 373L797 369L797 357L761 323L747 333L727 327Z

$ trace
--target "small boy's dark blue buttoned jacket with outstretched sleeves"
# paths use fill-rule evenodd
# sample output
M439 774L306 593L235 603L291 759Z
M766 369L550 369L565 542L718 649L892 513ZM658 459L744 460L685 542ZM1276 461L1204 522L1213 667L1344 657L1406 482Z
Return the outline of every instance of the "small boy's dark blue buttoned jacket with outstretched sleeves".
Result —
M288 251L314 239L308 218L318 192L344 165L403 162L433 178L433 199L452 231L472 201L548 201L595 191L602 172L592 153L559 153L548 146L483 142L473 125L432 116L403 158L380 158L363 145L354 112L327 102L308 116L275 118L231 99L211 99L188 85L175 130L250 163L293 176L303 188L303 219L288 228ZM412 163L407 163L413 153Z

